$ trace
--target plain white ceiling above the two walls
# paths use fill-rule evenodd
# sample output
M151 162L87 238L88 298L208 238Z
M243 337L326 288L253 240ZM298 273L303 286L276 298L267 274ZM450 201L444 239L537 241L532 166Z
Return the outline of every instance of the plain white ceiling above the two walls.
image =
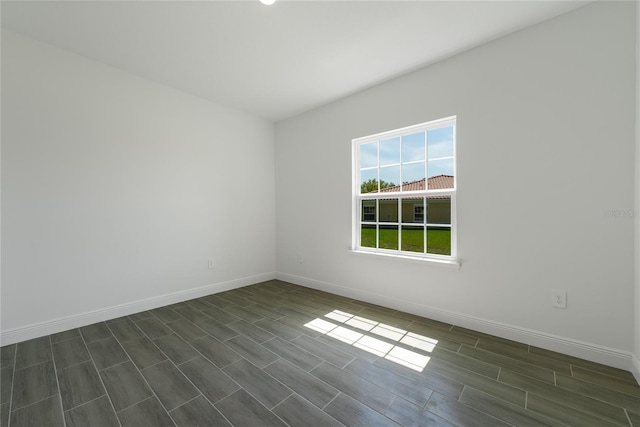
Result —
M589 1L2 1L2 26L278 121Z

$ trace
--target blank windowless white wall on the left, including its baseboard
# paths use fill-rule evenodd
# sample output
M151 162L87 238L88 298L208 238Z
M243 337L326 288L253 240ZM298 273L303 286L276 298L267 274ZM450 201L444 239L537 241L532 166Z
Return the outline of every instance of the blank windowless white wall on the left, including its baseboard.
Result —
M3 344L274 277L272 123L11 32L2 114Z

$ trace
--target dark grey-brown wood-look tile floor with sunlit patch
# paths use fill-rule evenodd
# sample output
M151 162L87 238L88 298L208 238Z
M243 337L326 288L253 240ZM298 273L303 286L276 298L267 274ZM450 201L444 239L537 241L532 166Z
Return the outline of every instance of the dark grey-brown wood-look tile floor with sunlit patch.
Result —
M0 361L0 426L640 426L629 372L276 280Z

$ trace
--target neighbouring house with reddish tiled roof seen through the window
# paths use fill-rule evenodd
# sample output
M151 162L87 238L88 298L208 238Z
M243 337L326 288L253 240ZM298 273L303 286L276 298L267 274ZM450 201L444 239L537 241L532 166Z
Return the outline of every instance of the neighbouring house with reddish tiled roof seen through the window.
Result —
M402 191L420 191L425 189L425 184L429 190L444 190L453 188L453 176L437 175L428 179L407 182L402 185ZM380 190L381 193L392 193L400 191L400 186L387 187ZM362 206L364 221L375 221L375 201L365 201ZM451 196L433 195L427 196L427 206L425 208L423 197L415 199L403 199L402 201L402 222L428 224L451 224ZM380 200L380 222L398 222L398 199Z

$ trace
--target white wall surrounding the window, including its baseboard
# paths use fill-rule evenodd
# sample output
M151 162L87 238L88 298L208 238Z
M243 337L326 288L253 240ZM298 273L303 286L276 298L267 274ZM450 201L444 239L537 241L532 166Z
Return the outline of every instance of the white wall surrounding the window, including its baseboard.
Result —
M589 5L278 123L278 277L630 369L634 221L605 211L634 206L634 8ZM351 139L450 115L462 268L351 253Z

